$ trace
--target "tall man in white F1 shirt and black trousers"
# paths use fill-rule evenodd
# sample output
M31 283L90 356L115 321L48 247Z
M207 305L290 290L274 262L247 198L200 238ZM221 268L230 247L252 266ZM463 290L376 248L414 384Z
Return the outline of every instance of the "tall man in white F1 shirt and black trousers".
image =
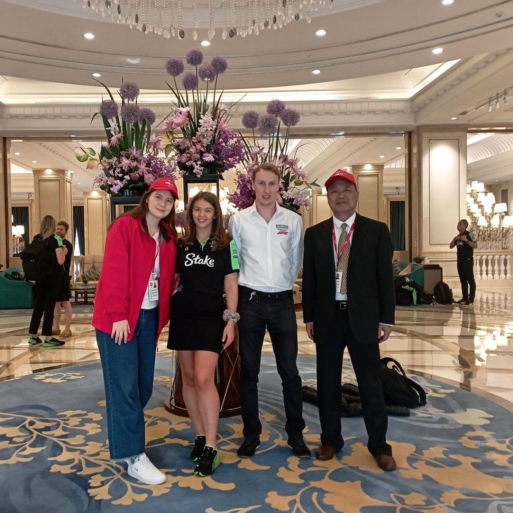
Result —
M251 458L260 447L258 381L265 331L282 379L288 445L295 456L310 457L303 440L303 398L298 356L298 326L292 286L303 253L301 218L276 197L280 170L261 164L253 171L255 202L232 216L228 231L239 251L239 351L244 443L237 454Z

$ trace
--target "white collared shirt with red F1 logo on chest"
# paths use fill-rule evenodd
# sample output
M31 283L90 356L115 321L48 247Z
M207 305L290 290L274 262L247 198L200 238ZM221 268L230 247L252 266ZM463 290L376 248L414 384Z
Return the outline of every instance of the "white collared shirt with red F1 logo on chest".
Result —
M239 285L262 292L292 290L303 256L299 214L277 203L267 223L255 202L232 215L228 231L239 252Z

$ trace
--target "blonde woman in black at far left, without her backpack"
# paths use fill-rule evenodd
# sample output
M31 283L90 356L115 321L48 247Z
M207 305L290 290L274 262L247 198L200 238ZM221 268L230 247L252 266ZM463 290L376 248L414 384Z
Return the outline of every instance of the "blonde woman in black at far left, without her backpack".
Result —
M41 279L35 283L35 305L29 327L29 344L41 344L45 347L63 346L64 341L52 337L53 310L61 288L61 275L64 272L63 264L68 249L63 246L60 235L55 234L55 219L51 215L45 215L41 221L40 233L34 237L34 241L40 240L46 244L49 253L49 269ZM45 340L41 340L37 331L43 317L43 329L41 331Z

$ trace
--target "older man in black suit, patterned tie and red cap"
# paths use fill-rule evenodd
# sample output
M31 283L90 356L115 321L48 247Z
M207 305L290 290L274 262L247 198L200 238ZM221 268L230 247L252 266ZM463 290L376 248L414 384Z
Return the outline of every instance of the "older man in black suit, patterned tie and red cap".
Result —
M356 213L359 191L339 169L325 184L333 217L306 230L303 315L317 352L321 447L330 460L344 446L341 434L342 358L347 347L360 388L367 447L382 470L395 470L386 442L387 412L379 343L394 323L392 243L384 223Z

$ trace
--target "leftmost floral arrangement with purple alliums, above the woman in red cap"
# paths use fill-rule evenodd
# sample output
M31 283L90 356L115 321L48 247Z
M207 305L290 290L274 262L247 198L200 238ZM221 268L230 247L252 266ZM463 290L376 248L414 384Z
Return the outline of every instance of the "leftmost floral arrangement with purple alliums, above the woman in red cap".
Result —
M102 144L98 156L93 148L83 146L75 149L75 156L78 161L87 162L87 169L102 169L93 182L100 189L111 194L138 195L156 178L172 177L175 163L158 156L164 144L151 133L155 113L137 105L137 84L123 82L119 90L121 108L109 88L102 85L110 100L102 101L92 120L97 114L102 116L107 143Z

